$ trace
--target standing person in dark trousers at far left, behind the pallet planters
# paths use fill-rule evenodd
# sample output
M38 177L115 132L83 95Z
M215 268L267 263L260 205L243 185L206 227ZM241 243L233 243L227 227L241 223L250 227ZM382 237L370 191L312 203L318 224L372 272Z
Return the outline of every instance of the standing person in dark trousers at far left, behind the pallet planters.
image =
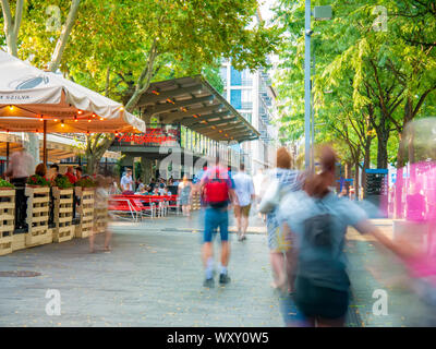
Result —
M9 159L9 168L5 176L10 182L15 185L15 227L17 229L25 228L26 226L26 210L27 201L25 196L25 185L27 178L33 174L35 165L34 159L28 152L23 147L21 151L15 152Z

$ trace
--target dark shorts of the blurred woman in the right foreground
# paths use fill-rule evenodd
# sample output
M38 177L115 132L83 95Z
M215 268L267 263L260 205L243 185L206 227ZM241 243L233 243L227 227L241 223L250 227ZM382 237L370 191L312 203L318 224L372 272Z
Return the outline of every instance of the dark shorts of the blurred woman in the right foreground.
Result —
M296 277L294 301L307 317L340 318L347 314L349 292L318 287Z

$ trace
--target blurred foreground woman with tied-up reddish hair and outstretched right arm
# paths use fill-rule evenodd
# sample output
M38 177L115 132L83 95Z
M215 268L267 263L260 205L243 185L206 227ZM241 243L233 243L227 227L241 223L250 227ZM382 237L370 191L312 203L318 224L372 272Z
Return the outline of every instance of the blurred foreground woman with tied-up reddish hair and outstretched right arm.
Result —
M290 192L282 200L279 219L294 234L298 268L293 299L305 320L298 326L343 326L349 305L350 280L343 246L348 226L375 237L399 256L413 255L393 243L368 220L365 212L347 197L338 197L335 184L336 155L329 147L320 154L318 174L310 176L304 191Z

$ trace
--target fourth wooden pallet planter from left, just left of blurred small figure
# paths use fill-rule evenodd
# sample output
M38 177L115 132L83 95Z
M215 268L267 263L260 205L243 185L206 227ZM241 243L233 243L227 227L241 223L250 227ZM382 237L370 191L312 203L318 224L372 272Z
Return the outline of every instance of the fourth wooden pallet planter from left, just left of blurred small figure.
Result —
M76 186L74 191L80 201L77 213L81 217L80 224L75 228L75 237L87 238L93 232L94 227L95 190L94 188Z

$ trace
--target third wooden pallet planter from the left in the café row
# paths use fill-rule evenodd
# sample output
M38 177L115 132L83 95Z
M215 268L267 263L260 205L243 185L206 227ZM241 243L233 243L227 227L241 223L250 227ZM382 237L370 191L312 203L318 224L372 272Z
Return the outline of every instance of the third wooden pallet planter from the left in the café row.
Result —
M53 241L64 242L74 238L73 195L74 189L52 188L53 193Z

